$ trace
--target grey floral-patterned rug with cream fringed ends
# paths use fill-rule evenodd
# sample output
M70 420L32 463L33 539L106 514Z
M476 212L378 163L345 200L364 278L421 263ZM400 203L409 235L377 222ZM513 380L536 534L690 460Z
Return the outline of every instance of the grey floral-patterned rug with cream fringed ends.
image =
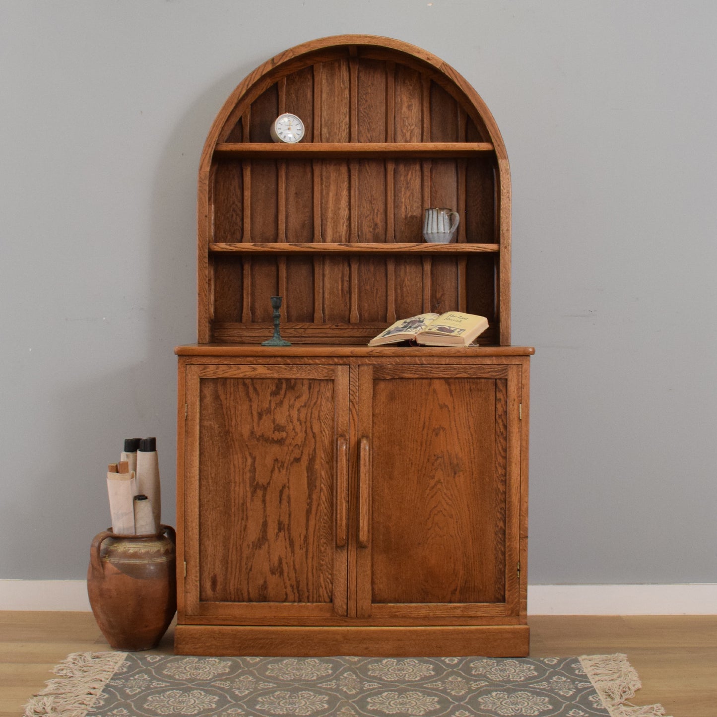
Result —
M27 717L655 717L625 655L184 657L78 652Z

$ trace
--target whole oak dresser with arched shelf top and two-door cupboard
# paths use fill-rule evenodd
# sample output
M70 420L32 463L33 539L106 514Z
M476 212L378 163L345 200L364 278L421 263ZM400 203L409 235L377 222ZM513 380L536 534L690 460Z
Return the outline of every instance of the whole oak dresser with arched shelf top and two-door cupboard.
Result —
M303 141L273 143L280 113ZM528 359L493 117L429 52L301 44L217 115L199 168L199 343L180 346L175 650L527 655ZM427 207L460 215L422 240ZM272 336L270 297L283 297ZM488 318L480 346L366 346Z

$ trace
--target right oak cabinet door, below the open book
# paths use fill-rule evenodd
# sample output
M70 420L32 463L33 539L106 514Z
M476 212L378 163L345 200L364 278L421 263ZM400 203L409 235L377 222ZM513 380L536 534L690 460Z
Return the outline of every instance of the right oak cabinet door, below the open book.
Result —
M359 617L518 614L521 369L359 369Z

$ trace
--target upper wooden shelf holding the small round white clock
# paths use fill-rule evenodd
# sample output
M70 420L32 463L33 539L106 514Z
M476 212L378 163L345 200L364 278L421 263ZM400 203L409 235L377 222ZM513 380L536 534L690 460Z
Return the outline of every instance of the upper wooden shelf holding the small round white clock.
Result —
M416 158L475 157L494 151L490 142L302 142L275 144L265 142L219 143L214 156L235 158Z

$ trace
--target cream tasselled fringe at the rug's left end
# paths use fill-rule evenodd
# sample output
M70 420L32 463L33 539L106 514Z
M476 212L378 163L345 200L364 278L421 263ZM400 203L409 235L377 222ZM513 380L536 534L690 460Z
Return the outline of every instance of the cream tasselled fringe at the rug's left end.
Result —
M85 717L126 656L126 652L67 655L52 670L62 679L48 680L47 687L25 705L24 717Z

